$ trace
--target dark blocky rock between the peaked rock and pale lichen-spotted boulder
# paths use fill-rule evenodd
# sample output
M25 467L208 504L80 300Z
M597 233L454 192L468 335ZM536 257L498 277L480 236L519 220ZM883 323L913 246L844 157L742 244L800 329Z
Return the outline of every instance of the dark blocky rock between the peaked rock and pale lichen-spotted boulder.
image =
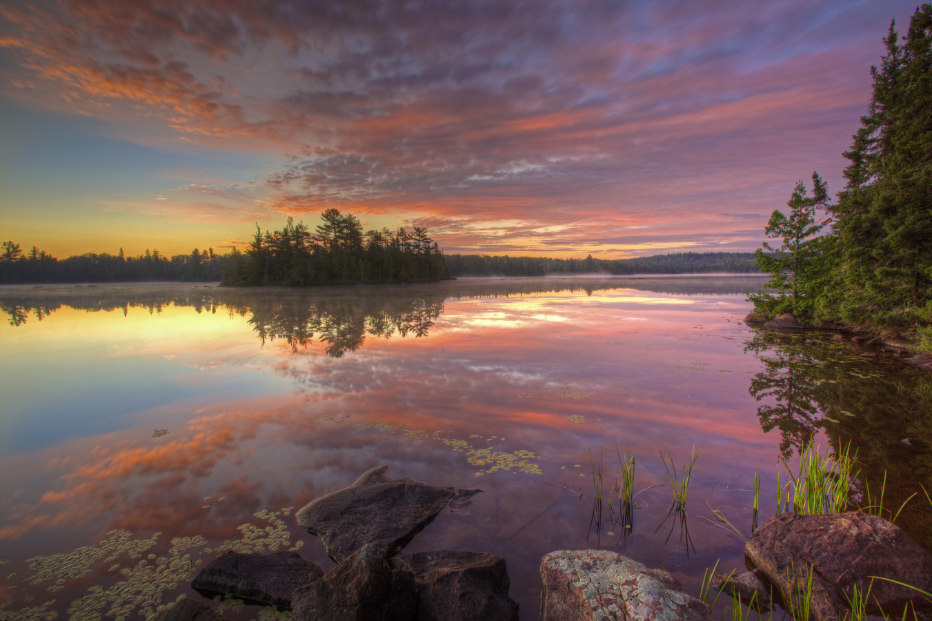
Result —
M487 552L439 550L398 554L393 569L418 579L418 621L517 621L505 559Z

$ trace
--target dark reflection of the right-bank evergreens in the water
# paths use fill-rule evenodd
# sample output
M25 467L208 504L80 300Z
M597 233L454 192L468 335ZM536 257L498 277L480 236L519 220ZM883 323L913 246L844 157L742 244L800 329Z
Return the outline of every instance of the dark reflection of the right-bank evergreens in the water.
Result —
M807 346L806 338L814 335L761 331L747 342L745 351L765 366L749 388L766 401L758 407L761 428L780 430L785 459L819 430L834 450L850 442L861 469L856 496L864 497L866 485L874 495L884 486L884 506L896 510L920 492L897 524L932 550L932 507L919 487L932 494L932 374L889 359L859 358L852 343ZM915 447L905 446L904 438Z

